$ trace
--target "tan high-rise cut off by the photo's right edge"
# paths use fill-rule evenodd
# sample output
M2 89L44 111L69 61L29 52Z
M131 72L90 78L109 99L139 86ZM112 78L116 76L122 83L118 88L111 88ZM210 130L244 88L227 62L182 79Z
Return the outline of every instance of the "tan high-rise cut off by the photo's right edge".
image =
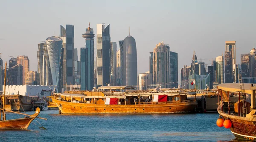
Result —
M250 51L249 56L249 73L250 77L256 77L256 49Z

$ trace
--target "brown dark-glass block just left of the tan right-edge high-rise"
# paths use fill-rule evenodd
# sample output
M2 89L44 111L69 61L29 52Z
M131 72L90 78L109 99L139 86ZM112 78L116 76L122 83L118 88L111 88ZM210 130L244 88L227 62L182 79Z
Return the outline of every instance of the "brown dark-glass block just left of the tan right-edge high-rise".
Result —
M241 75L243 77L250 76L250 54L241 54Z

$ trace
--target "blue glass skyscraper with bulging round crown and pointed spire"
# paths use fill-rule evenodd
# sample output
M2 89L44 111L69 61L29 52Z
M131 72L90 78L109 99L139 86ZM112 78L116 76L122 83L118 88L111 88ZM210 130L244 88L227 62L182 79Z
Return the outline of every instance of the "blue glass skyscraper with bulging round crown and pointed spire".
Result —
M90 23L82 37L85 38L85 48L80 50L81 90L92 90L94 85L94 34Z

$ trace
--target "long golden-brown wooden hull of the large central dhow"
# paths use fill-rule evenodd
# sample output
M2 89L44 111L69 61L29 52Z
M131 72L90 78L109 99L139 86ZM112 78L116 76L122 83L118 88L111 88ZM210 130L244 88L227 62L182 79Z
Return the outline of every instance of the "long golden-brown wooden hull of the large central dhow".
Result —
M169 104L84 104L52 99L62 114L90 113L189 113L195 110L195 101Z

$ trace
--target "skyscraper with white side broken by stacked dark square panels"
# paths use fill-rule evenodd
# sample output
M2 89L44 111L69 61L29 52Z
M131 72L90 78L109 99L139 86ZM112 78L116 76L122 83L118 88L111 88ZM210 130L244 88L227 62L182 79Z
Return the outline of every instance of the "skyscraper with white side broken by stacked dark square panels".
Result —
M110 83L110 25L97 24L97 85Z

